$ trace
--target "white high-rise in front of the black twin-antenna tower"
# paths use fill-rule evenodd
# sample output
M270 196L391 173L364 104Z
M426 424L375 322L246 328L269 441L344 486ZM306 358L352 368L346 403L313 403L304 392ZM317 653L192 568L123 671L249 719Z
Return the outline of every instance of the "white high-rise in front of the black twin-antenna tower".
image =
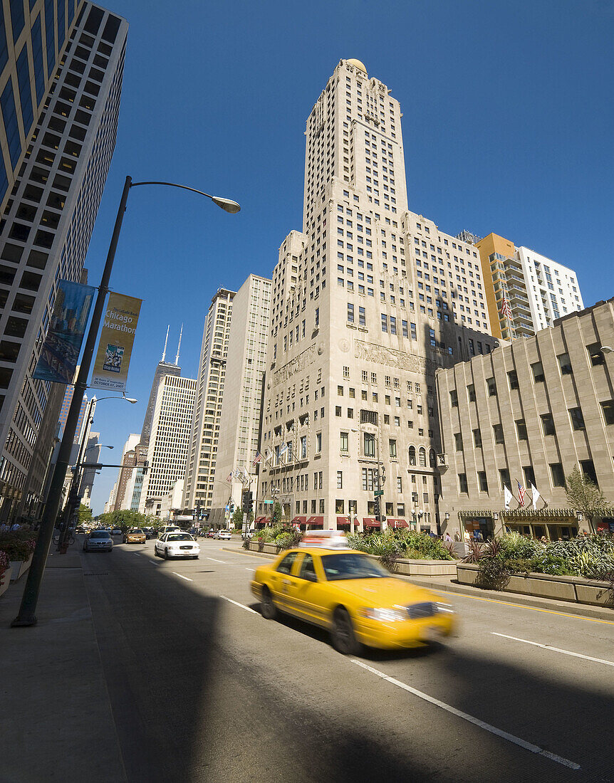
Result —
M161 513L161 501L186 470L196 380L163 375L158 386L139 511Z

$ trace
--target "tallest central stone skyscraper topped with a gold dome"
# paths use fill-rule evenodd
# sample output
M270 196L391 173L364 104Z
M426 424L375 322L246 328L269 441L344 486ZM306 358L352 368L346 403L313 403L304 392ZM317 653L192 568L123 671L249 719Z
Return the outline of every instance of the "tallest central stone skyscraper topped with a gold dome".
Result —
M435 369L494 341L477 250L407 210L400 117L341 60L307 120L303 231L273 272L263 518L278 501L309 527L438 521Z

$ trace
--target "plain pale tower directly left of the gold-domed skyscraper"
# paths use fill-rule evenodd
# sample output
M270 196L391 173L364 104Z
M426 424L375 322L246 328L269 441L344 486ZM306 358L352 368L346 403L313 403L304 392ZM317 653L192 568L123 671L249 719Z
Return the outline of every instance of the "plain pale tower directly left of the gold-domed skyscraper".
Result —
M233 298L226 358L226 376L233 383L225 384L219 417L209 517L212 524L222 524L229 498L240 507L244 491L251 491L255 496L256 471L252 463L260 438L270 313L271 281L250 275ZM233 476L228 481L230 473Z

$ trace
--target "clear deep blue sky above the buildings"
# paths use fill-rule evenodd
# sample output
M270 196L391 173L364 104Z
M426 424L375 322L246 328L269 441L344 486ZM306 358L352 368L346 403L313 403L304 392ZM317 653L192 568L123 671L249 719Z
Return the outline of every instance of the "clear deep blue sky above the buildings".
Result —
M115 446L143 423L171 325L195 377L218 287L270 276L302 227L305 121L341 58L401 103L410 209L443 231L494 231L576 269L585 305L614 295L612 0L405 2L125 0L117 146L86 265L99 281L125 175L233 198L238 215L176 189L133 189L111 287L143 298L128 394L94 428ZM167 356L168 359L168 356ZM117 460L114 458L117 457ZM117 471L96 479L103 510Z

